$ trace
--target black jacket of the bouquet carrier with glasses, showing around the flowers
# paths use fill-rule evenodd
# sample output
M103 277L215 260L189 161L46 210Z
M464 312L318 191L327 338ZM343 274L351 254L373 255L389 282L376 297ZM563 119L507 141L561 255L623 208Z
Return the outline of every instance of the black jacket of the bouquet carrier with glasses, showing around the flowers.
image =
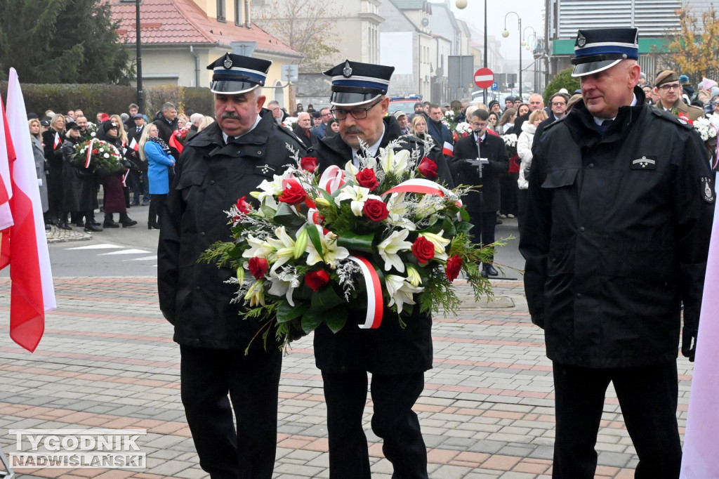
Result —
M394 117L385 117L385 134L381 147L400 136ZM423 147L416 137L406 137L406 149ZM352 160L352 149L340 134L322 138L319 145L311 148L308 155L319 159L320 170L330 165L344 168ZM438 147L425 155L437 163L438 180L452 187L444 155ZM432 319L429 314L419 314L415 306L411 316L403 317L407 326L400 327L397 314L385 308L382 324L377 329L359 329L365 322L363 305L348 305L349 318L344 328L334 334L326 324L315 329L314 352L317 368L330 373L370 371L379 374L421 373L432 367Z

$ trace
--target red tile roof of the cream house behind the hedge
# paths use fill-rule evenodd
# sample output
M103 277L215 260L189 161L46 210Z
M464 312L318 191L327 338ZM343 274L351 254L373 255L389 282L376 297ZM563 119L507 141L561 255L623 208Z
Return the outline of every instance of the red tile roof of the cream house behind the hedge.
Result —
M119 22L121 40L135 42L135 4L111 0L112 18ZM140 4L140 41L142 45L214 44L229 49L229 42L257 42L257 50L290 55L301 53L265 30L238 27L232 19L218 22L209 18L192 0L142 0Z

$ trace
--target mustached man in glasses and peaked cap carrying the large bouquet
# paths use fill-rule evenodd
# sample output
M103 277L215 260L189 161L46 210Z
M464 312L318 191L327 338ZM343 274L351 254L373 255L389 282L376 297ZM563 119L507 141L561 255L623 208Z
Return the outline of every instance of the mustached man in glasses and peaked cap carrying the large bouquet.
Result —
M339 134L325 137L308 155L319 159L319 168L358 165L362 143L377 155L380 147L400 137L399 123L387 115L386 95L394 68L351 62L324 74L332 78L331 104L339 120ZM423 148L416 137L403 137L403 149ZM439 148L425 154L437 163L437 181L452 186L449 168ZM377 329L359 329L364 308L352 307L347 325L334 334L326 324L315 330L317 368L324 379L329 434L331 479L370 479L367 437L362 413L367 401L367 373L372 373L372 431L383 439L383 452L397 478L427 478L427 452L412 406L424 388L424 371L432 367L429 314L403 318L385 308ZM395 477L393 476L393 477Z

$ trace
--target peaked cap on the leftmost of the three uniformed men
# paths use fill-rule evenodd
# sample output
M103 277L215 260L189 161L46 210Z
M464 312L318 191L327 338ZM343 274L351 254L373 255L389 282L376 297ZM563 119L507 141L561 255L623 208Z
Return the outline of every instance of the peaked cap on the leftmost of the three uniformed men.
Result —
M212 70L210 91L236 95L265 86L270 65L270 60L225 53L207 65L207 69Z

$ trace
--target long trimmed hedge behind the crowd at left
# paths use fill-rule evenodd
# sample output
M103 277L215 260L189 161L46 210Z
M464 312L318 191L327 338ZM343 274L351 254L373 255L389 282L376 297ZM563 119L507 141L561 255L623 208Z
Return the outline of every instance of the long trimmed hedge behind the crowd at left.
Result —
M91 83L22 83L25 109L42 118L50 109L66 114L69 109L81 109L88 120L95 121L99 111L108 114L127 113L127 106L137 103L137 89L133 86L98 85ZM0 94L7 98L7 82L0 81ZM166 101L175 104L178 113L188 110L214 115L214 100L209 88L186 86L150 86L145 88L145 111L152 121Z

